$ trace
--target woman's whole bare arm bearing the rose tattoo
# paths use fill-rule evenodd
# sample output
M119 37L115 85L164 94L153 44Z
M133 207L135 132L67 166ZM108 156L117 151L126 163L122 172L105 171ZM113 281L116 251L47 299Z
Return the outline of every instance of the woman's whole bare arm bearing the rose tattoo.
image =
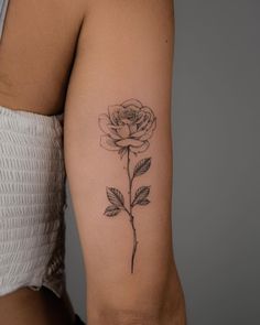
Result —
M184 325L172 248L171 0L89 1L65 163L89 325Z

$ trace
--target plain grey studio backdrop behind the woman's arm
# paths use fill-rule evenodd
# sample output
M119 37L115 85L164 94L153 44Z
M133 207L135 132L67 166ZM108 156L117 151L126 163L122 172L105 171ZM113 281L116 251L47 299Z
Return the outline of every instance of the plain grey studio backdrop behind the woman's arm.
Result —
M188 325L260 324L260 2L175 1L173 236ZM85 313L68 193L67 286Z

